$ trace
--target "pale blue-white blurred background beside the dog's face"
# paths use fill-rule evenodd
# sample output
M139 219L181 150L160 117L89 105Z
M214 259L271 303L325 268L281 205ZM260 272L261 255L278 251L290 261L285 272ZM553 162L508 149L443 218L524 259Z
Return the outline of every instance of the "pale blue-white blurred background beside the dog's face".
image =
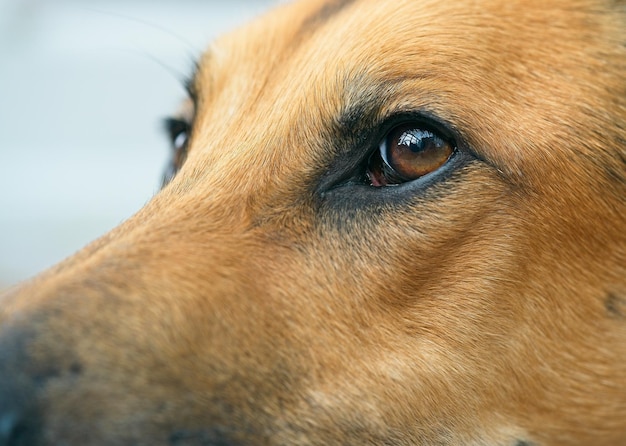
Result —
M195 58L272 3L0 0L0 289L150 199Z

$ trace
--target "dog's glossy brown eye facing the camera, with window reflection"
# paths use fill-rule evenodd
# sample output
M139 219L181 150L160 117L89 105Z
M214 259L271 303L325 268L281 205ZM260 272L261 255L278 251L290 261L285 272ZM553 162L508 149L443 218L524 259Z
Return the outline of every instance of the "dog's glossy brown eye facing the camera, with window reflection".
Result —
M442 167L455 151L454 144L418 123L394 127L369 159L367 176L372 186L391 186L416 180Z

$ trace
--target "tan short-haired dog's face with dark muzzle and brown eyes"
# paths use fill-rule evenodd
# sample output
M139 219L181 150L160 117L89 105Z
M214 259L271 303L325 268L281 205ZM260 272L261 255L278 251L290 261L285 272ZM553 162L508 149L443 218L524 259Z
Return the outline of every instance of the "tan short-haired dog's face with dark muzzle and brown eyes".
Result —
M626 2L276 8L2 297L0 445L626 445Z

